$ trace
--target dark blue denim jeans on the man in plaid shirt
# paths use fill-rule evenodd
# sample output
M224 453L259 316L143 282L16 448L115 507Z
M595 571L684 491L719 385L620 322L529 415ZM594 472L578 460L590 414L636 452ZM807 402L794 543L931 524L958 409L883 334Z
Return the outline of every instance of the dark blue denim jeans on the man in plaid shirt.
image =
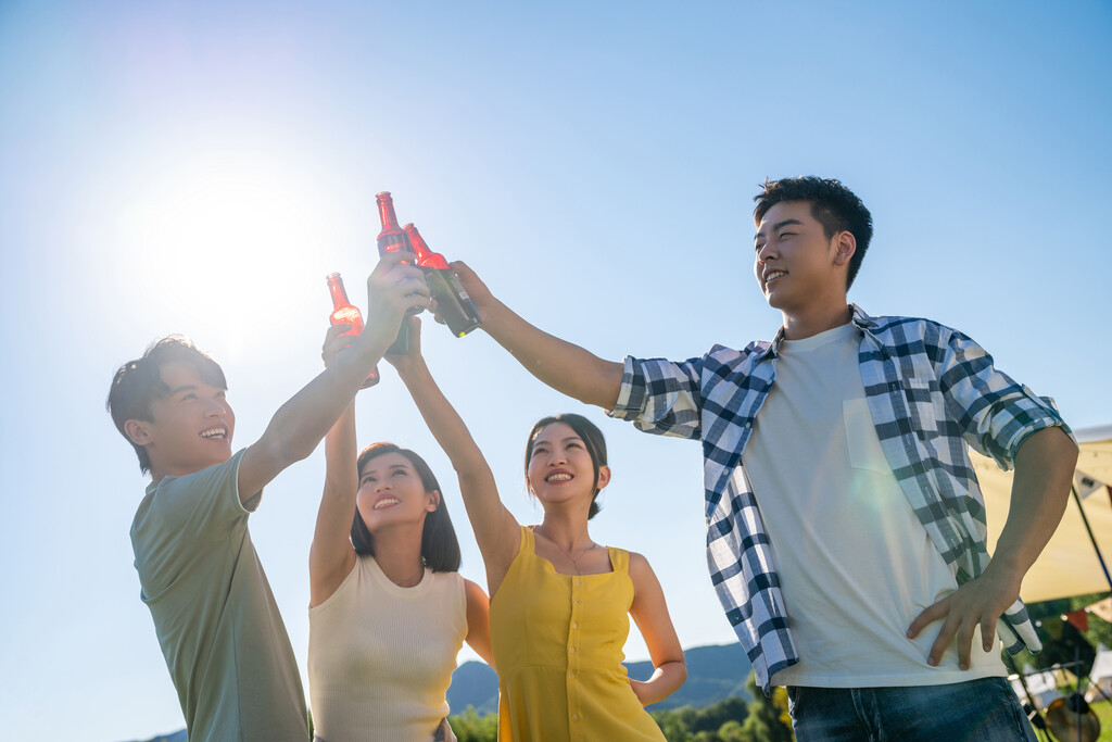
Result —
M787 689L797 742L1037 742L1003 677L913 687Z

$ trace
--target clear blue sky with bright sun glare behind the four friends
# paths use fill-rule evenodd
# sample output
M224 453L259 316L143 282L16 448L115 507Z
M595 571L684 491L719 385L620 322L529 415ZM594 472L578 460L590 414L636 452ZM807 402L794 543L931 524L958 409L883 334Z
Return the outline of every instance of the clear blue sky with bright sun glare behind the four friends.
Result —
M853 301L959 327L1074 427L1112 424L1110 39L1098 1L0 2L6 735L183 726L139 600L146 479L109 382L187 335L222 364L249 445L319 372L325 275L360 296L381 190L538 326L604 358L678 359L775 334L751 199L766 177L835 177L875 224ZM425 335L519 520L539 520L530 425L587 414L614 472L594 538L645 554L685 646L733 641L697 443L547 389L481 330ZM451 482L380 370L360 443ZM318 448L250 520L302 669L322 474ZM627 655L647 656L636 633Z

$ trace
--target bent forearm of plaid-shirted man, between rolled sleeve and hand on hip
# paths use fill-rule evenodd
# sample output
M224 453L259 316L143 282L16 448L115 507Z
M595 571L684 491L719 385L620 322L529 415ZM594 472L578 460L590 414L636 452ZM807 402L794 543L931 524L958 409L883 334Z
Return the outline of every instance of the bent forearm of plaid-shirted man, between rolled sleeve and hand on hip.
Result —
M1015 455L1007 521L990 568L1022 582L1065 512L1078 448L1059 427L1033 433Z

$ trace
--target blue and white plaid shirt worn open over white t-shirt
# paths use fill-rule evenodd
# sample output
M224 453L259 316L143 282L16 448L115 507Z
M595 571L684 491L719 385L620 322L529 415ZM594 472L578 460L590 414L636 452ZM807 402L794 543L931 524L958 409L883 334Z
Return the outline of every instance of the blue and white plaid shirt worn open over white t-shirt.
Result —
M990 556L984 498L966 444L1010 469L1029 435L1061 426L1053 400L1035 396L993 367L992 357L957 330L927 319L870 317L861 328L861 380L885 458L957 584L979 576ZM742 465L753 422L776 379L783 329L744 350L721 345L674 363L625 360L609 415L641 431L703 442L707 565L756 672L771 677L798 662L768 535ZM1042 649L1023 603L1001 617L1012 654Z

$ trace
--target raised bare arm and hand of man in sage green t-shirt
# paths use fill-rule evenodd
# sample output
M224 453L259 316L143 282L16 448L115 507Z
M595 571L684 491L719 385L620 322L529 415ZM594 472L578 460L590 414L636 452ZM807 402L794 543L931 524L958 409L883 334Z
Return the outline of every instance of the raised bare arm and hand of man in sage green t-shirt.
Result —
M406 309L429 306L421 270L401 265L404 257L394 254L383 258L367 279L370 306L364 332L336 363L275 413L262 437L244 453L240 501L247 502L279 472L312 453L394 342Z

